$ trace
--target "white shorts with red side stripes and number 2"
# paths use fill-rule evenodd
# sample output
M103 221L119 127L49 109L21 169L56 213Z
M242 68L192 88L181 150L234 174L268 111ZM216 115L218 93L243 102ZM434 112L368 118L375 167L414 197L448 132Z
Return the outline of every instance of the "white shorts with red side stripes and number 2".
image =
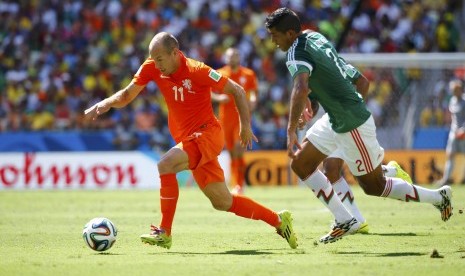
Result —
M373 116L350 132L336 133L325 114L305 137L323 154L343 159L354 176L372 172L384 159L384 149L376 139Z

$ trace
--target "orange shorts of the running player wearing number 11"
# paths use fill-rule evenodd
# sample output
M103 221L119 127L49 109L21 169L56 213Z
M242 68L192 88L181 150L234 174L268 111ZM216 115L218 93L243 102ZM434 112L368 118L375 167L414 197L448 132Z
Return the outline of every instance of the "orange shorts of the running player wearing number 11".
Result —
M201 189L210 183L224 182L224 172L218 162L224 146L224 135L218 121L204 124L182 140L182 145L189 156L189 169Z

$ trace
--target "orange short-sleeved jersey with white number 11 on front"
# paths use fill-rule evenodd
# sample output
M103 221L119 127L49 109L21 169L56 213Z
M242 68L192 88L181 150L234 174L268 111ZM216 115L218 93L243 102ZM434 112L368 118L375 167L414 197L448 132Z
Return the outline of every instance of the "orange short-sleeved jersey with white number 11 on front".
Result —
M202 125L216 120L211 104L211 91L222 91L223 77L203 62L181 54L181 65L169 76L163 75L148 58L134 75L133 82L145 86L155 81L168 106L168 127L176 143L197 131Z

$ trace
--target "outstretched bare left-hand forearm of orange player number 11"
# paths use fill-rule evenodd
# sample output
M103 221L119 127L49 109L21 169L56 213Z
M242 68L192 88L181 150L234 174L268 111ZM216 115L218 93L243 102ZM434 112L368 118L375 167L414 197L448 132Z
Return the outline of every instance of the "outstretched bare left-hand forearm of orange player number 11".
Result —
M94 104L84 111L86 118L97 119L98 116L110 110L110 108L122 108L128 105L142 91L144 86L131 82L128 86L110 97Z

